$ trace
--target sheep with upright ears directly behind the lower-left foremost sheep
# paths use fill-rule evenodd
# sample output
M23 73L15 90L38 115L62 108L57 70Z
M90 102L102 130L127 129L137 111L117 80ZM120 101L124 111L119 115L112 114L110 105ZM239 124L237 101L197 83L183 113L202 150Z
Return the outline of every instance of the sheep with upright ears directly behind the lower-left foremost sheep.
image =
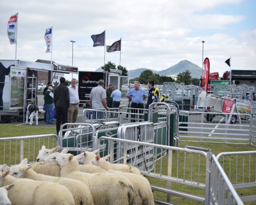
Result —
M28 165L28 159L25 158L21 161L21 163L19 163L19 165L11 166L9 175L16 178L50 181L61 184L62 186L67 187L69 192L71 192L76 205L94 204L91 192L88 186L86 186L84 183L75 179L38 174L30 168L31 166Z

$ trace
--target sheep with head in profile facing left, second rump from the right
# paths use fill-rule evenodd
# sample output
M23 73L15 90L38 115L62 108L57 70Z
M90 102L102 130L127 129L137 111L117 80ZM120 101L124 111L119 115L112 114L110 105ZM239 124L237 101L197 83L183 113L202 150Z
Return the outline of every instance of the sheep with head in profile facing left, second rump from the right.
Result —
M79 164L71 154L54 153L45 160L56 160L61 176L78 179L88 185L95 205L133 204L134 188L128 179L112 173L79 172Z

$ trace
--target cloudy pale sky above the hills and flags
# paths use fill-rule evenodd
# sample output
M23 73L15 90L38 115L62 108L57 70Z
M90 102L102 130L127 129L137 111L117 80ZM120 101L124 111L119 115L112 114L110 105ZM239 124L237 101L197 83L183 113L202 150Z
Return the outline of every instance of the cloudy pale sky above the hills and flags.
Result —
M94 71L112 62L127 70L168 69L181 60L210 72L256 70L256 1L254 0L0 0L0 59L15 59L7 23L18 14L17 59L51 60L45 53L45 30L52 26L52 60ZM122 38L121 52L92 47L91 35L106 32L106 45Z

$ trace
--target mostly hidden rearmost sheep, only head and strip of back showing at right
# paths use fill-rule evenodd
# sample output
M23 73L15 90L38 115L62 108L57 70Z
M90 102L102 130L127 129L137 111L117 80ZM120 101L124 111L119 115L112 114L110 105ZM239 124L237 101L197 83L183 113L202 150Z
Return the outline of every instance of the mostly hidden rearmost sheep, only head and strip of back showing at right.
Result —
M93 152L86 151L85 155L82 156L82 163L84 163L84 165L93 164L92 162L94 162L97 152L98 152L98 150L93 151ZM105 156L104 159L109 158L109 156L110 155ZM139 172L139 169L135 168L135 166L124 165L121 163L110 163L110 162L108 162L108 163L109 163L109 166L107 169L113 169L113 170L117 170L117 171L121 171L121 172L128 172L128 173L134 173L137 175L141 175L141 172Z

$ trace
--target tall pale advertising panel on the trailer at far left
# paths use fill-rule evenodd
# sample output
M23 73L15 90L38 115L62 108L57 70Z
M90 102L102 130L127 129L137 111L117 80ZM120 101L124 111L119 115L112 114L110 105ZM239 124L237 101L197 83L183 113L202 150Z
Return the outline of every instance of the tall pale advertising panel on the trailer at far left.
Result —
M11 66L11 96L9 108L17 109L24 108L24 85L26 77L26 69L21 67Z

